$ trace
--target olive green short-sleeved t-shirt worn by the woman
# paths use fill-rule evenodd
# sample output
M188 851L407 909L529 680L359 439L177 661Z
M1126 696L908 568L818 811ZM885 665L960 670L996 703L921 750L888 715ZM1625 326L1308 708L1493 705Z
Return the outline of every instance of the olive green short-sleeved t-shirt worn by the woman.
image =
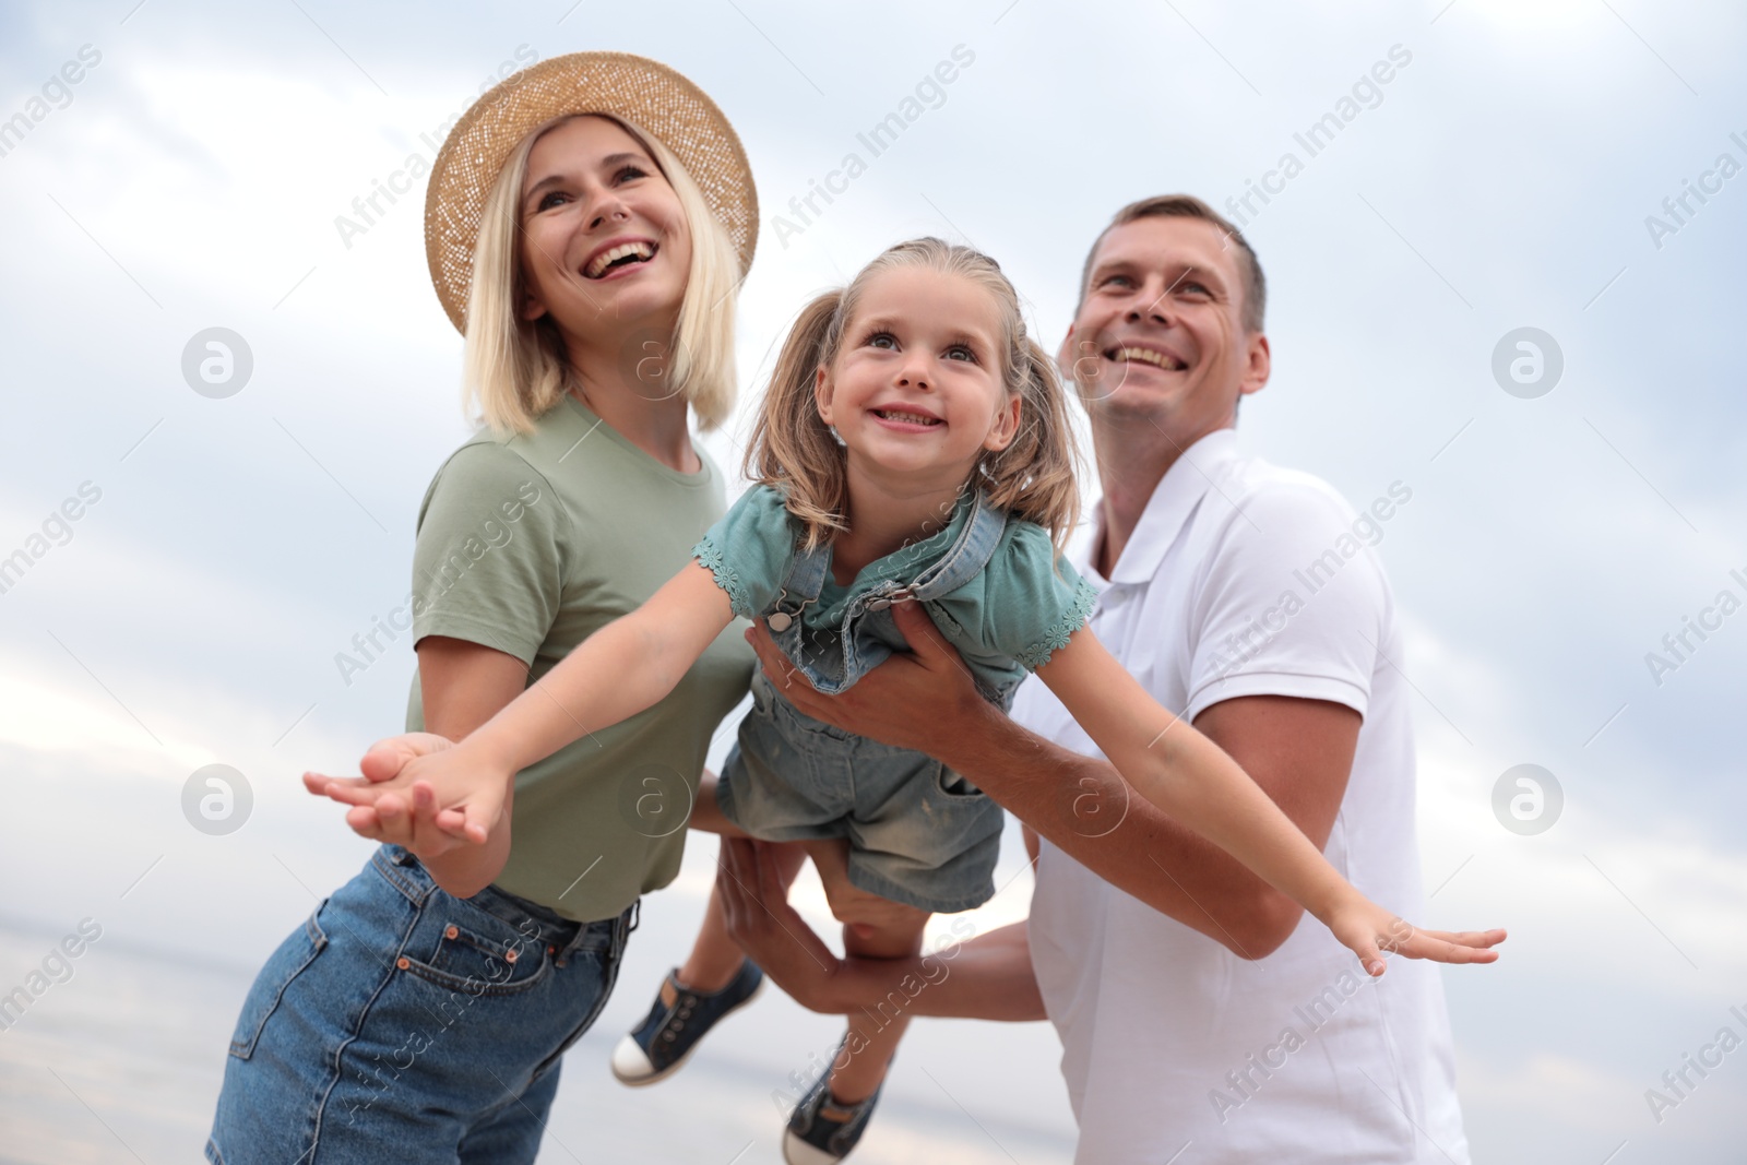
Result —
M697 456L702 472L671 470L571 396L529 435L480 431L419 508L414 641L496 648L533 683L690 562L725 505L722 473ZM730 624L653 707L515 776L500 889L592 922L674 879L709 739L751 681L744 631ZM407 730L423 728L414 676Z

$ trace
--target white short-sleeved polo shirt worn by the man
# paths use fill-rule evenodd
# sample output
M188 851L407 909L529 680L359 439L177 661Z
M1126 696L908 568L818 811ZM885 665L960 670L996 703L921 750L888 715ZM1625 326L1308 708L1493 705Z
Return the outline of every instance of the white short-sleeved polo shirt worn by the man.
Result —
M1424 917L1413 741L1394 603L1370 545L1412 489L1366 512L1321 480L1240 458L1237 433L1191 445L1160 480L1092 629L1190 721L1240 695L1356 709L1352 777L1324 854L1373 901ZM1041 683L1013 718L1099 755ZM1162 875L1160 875L1162 877ZM1043 844L1031 952L1080 1121L1083 1165L1467 1165L1438 969L1382 980L1312 917L1246 961Z

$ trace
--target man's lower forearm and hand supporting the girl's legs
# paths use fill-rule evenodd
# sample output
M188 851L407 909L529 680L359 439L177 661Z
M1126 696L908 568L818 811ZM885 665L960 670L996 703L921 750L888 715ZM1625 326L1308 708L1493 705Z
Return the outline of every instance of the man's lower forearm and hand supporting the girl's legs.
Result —
M912 959L839 959L802 920L763 842L722 838L716 875L728 934L800 1006L826 1015L886 1008L968 1020L1041 1020L1025 924Z

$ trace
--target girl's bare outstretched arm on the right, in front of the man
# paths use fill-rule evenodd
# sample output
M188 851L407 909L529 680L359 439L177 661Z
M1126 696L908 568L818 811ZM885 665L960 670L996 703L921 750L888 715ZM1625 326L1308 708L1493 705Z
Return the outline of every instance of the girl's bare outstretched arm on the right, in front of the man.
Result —
M1440 962L1492 962L1502 934L1417 931L1356 891L1212 741L1172 716L1081 627L1038 678L1141 796L1288 894L1370 975L1382 952Z

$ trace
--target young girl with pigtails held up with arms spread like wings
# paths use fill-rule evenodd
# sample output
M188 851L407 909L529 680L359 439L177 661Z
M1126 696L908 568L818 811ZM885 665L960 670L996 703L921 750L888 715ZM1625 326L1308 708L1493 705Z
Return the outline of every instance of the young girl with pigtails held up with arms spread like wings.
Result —
M367 803L412 786L445 810L438 826L482 842L512 774L652 706L734 617L765 622L793 662L788 685L798 676L840 692L905 650L891 606L914 601L989 700L1005 707L1034 671L1143 796L1300 901L1371 975L1384 947L1443 950L1352 889L1242 769L1083 629L1094 590L1059 557L1078 517L1066 395L994 260L915 239L809 304L783 348L748 475L758 484L643 608L456 748L330 795ZM753 697L716 803L746 833L816 842L821 856L826 840L847 838L849 880L910 908L846 929L851 954L912 955L928 913L992 896L1001 810L987 796L921 753L804 716L762 672ZM653 1079L678 1067L749 994L744 976L728 990L723 1006L669 980L615 1071ZM849 1153L903 1027L905 1017L851 1022L790 1120L791 1163Z

